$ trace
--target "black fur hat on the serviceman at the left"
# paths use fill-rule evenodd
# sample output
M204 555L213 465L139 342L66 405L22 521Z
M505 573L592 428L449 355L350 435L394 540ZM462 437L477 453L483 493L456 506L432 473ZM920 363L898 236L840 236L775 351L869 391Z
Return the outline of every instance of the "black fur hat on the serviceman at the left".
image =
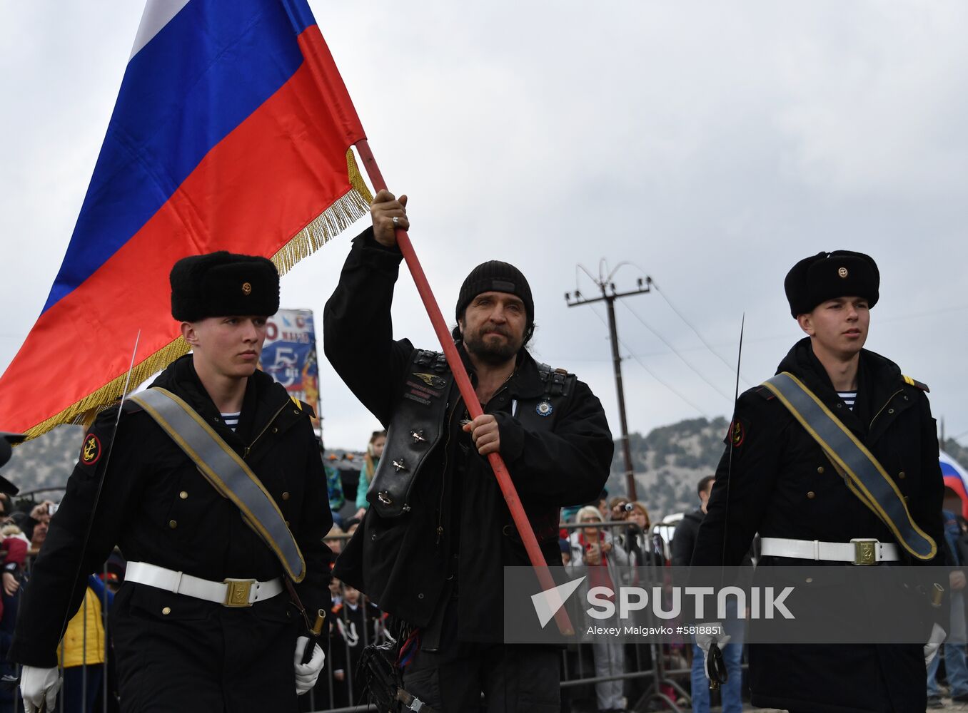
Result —
M178 321L279 312L279 272L265 257L225 251L183 257L169 280Z

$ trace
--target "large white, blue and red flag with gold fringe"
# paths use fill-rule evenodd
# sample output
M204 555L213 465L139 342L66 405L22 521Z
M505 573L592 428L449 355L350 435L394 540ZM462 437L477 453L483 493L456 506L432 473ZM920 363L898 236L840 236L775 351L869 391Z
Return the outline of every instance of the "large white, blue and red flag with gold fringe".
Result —
M285 272L365 214L365 138L305 0L148 0L67 254L0 377L0 428L36 436L188 350L171 265L227 250Z

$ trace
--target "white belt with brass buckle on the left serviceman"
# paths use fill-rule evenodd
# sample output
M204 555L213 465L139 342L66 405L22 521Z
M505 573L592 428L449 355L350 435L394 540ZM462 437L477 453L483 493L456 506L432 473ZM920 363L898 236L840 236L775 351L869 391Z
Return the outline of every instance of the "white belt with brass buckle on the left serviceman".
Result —
M215 602L225 607L252 607L256 602L272 599L283 591L283 580L278 577L269 581L256 579L210 581L147 562L129 562L125 568L124 579L166 589L175 594L203 599L206 602Z

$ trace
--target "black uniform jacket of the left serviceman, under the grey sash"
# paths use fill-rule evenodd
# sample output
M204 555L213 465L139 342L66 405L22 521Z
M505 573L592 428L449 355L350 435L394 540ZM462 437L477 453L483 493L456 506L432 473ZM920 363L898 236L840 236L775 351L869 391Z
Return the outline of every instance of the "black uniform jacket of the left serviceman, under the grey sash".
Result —
M192 355L174 362L154 385L192 405L257 474L289 522L306 560L306 577L296 585L299 598L311 612L328 610L332 553L322 538L332 526L332 517L309 407L296 404L282 386L256 371L248 380L237 431L231 431L198 381ZM90 433L97 438L97 452L88 450L86 464L82 452L50 522L10 650L11 660L20 664L57 665L56 647L67 614L80 605L87 575L101 571L115 545L129 561L203 579L264 581L283 576L279 560L242 521L238 508L218 494L195 463L134 404L124 409L105 472L116 413L116 408L107 409L95 422ZM85 436L85 443L89 440ZM94 525L82 550L96 500ZM78 562L80 577L75 579ZM244 610L256 617L281 613L285 622L294 616L291 611L287 615L281 604L287 599L284 591ZM141 610L158 617L168 609L165 620L191 620L221 607L127 582L115 598L114 609Z

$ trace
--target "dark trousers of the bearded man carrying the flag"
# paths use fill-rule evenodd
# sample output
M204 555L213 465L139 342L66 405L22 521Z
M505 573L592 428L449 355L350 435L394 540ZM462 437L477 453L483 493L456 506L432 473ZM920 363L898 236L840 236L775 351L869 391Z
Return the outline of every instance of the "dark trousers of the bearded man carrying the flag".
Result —
M560 655L553 646L458 641L457 601L450 600L439 649L421 641L404 668L404 688L439 713L559 713Z

